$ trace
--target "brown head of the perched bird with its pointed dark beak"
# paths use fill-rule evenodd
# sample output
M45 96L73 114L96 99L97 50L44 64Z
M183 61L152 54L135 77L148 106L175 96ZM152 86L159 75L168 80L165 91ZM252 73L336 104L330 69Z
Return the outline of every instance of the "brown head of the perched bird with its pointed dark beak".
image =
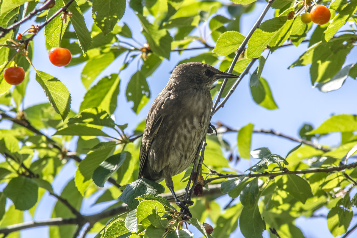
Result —
M201 62L177 65L172 71L170 81L180 86L210 88L218 79L237 79L239 76L228 74Z

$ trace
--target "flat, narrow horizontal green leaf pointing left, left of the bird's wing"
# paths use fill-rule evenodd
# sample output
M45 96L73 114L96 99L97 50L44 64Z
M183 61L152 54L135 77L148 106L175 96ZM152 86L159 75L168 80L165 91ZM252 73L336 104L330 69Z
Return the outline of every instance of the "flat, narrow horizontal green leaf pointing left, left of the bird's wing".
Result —
M66 136L108 136L101 130L101 127L94 127L84 124L69 124L57 130L54 135Z

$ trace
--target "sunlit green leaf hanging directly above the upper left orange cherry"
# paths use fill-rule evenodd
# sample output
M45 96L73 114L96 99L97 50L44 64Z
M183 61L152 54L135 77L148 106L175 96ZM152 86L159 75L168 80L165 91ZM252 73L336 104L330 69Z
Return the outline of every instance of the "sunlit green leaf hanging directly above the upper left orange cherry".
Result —
M59 11L62 7L64 7L63 1L55 1L55 5L52 8L50 8L47 12L46 21L57 11ZM45 25L46 42L49 44L51 48L58 47L60 38L62 38L63 35L65 34L68 21L63 22L63 28L61 31L62 22L63 22L62 18L60 17L60 15L58 15L47 25ZM60 36L61 32L62 35Z

